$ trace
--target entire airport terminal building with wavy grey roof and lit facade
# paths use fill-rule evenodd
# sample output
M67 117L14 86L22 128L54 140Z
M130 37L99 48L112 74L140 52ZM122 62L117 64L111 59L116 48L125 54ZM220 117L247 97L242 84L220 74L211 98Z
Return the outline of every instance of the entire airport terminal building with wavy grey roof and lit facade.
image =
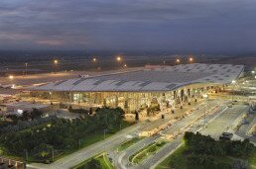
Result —
M127 113L159 106L182 107L206 88L221 88L243 74L243 65L180 64L79 77L31 88L34 97L87 107L120 107Z

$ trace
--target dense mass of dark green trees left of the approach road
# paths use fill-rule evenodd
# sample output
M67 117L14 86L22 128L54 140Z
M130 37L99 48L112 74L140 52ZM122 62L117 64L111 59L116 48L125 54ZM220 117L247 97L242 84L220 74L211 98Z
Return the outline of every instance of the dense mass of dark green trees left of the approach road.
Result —
M34 111L34 113L37 113L37 111ZM24 149L27 149L29 154L35 154L42 159L49 155L51 147L59 150L73 149L78 147L77 140L84 138L86 135L102 129L115 131L115 128L119 128L123 115L124 111L120 108L101 108L93 116L72 121L56 118L50 122L46 121L44 123L43 121L40 126L37 126L39 125L37 123L35 123L35 126L30 126L22 122L19 125L19 127L22 127L12 127L15 132L8 130L1 132L0 147L3 147L8 154L20 156L24 156ZM34 121L29 123L31 124ZM29 128L21 130L21 128L26 127ZM1 129L2 126L0 131Z

